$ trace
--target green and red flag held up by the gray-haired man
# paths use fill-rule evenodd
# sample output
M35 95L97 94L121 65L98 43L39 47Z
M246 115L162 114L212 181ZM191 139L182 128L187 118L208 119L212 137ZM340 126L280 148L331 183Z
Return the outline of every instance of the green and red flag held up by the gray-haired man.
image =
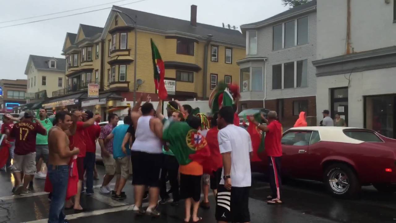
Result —
M255 121L261 123L261 114L260 113L255 113L253 115ZM263 131L261 131L252 121L250 121L250 117L248 117L249 120L249 127L247 127L247 132L250 135L251 138L251 144L253 148L253 157L251 161L261 161L259 158L259 153L264 152L265 150L265 144L264 144L264 135Z

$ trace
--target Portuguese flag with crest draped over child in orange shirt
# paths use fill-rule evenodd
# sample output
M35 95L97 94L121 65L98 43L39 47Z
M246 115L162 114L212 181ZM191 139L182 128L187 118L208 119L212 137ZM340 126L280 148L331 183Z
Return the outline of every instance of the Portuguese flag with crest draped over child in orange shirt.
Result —
M212 174L216 170L205 137L186 122L166 121L162 138L180 165L196 161L202 165L204 173Z

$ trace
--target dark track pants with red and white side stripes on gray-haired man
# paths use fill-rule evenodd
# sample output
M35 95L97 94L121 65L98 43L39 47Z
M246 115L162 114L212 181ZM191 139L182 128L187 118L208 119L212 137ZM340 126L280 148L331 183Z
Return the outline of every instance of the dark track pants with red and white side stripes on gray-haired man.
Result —
M272 191L272 200L280 200L282 180L280 178L281 157L268 156L268 176L270 180L270 187Z

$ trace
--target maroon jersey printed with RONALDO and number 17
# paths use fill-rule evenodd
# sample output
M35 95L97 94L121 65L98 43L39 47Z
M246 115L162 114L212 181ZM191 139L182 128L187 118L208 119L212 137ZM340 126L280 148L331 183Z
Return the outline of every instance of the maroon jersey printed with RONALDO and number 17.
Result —
M17 155L26 155L36 152L36 135L37 133L44 135L46 129L32 123L29 120L24 120L16 123L11 130L11 137L15 138L15 150Z

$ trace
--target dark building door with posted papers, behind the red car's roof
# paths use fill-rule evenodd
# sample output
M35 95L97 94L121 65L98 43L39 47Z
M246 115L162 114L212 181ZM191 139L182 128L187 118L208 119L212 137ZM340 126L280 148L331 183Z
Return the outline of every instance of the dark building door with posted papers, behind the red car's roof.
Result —
M334 119L335 114L339 114L348 126L348 88L331 89L330 116Z

